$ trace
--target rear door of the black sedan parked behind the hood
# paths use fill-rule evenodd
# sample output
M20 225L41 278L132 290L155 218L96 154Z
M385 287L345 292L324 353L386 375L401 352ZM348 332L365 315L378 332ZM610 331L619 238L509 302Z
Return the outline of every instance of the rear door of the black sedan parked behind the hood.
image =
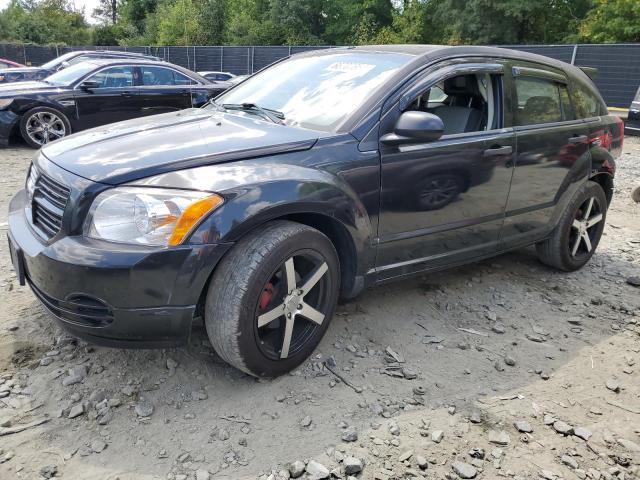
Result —
M191 107L192 80L172 68L156 65L140 67L140 99L143 115L175 112Z

